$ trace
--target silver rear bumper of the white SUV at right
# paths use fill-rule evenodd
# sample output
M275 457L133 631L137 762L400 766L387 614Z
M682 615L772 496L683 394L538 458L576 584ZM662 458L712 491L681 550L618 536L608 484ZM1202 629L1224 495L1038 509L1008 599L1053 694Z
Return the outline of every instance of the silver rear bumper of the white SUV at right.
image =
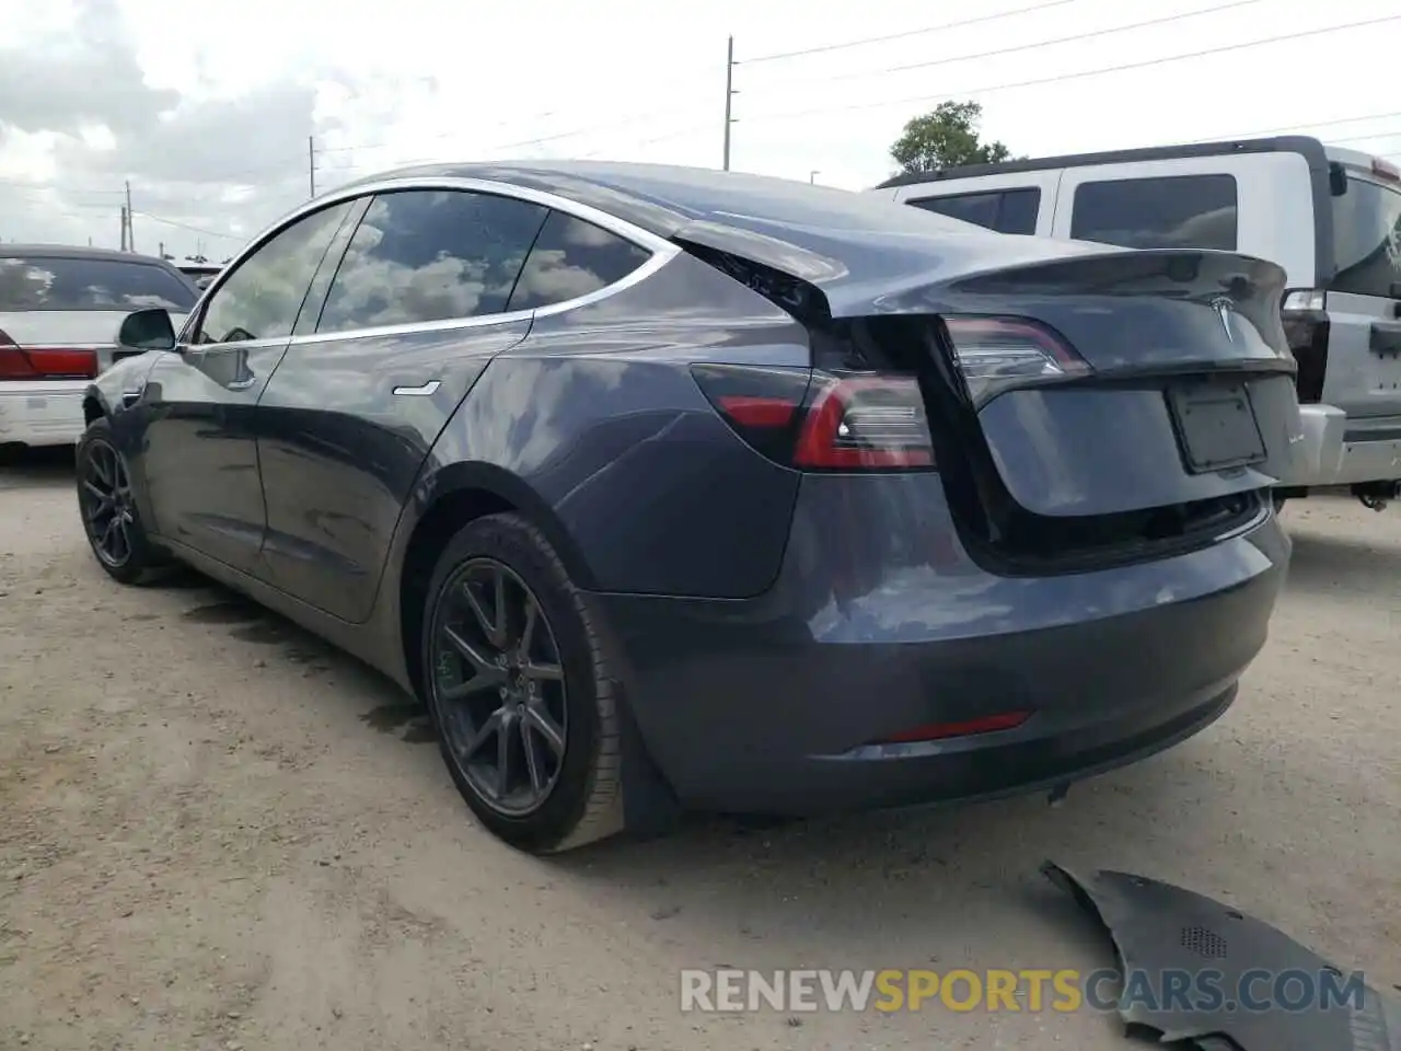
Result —
M1401 419L1353 419L1332 405L1300 405L1302 453L1281 485L1330 486L1401 479Z

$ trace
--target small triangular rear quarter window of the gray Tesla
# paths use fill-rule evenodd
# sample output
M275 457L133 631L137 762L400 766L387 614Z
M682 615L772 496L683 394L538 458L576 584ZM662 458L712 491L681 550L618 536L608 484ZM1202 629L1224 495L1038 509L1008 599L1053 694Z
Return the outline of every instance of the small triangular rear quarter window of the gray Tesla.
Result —
M651 252L602 227L551 212L521 270L510 310L538 310L621 282Z

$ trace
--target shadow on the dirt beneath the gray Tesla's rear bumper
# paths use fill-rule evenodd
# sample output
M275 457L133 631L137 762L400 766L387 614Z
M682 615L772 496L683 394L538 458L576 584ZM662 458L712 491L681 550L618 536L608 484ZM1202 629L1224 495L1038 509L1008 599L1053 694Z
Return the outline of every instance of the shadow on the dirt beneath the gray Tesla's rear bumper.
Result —
M998 932L1005 932L1006 960L984 966L1049 967L1033 959L1035 946L1019 947L1031 915L1047 944L1069 939L1077 956L1103 957L1108 966L1103 932L1045 880L1041 863L1055 859L1083 872L1125 869L1199 884L1199 870L1188 876L1189 852L1184 872L1164 872L1161 844L1152 860L1146 830L1171 835L1182 813L1206 806L1199 768L1212 761L1210 743L1188 741L1177 755L1075 786L1056 809L1045 796L1023 796L771 828L693 817L664 838L622 839L546 863L591 891L639 902L654 922L674 925L677 937L685 939L691 925L698 939L723 937L729 928L737 950L761 956L766 937L782 935L792 949L797 935L818 960L856 966L849 963L853 954L874 954L862 963L897 966L892 959L926 939L923 959L941 957L948 967L962 966L950 961L965 947L996 944ZM1196 768L1191 776L1189 768ZM874 959L887 950L894 956Z

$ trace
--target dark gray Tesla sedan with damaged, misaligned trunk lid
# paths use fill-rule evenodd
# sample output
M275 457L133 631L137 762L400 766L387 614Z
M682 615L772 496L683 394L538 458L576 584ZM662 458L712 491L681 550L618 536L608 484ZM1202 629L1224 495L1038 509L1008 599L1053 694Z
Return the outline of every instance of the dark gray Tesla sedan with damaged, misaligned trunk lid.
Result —
M116 580L189 563L423 698L527 851L1055 790L1265 640L1285 275L675 167L289 214L88 388Z

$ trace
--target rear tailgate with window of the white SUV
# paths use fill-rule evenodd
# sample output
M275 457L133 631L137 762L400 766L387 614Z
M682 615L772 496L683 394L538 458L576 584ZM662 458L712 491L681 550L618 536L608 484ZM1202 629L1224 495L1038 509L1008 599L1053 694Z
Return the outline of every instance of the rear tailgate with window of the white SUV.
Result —
M1401 181L1370 163L1345 171L1346 192L1331 198L1335 269L1325 289L1323 399L1349 420L1369 420L1355 432L1384 426L1395 432L1386 437L1401 437Z

